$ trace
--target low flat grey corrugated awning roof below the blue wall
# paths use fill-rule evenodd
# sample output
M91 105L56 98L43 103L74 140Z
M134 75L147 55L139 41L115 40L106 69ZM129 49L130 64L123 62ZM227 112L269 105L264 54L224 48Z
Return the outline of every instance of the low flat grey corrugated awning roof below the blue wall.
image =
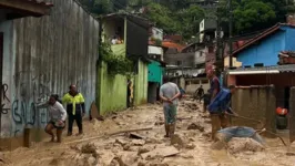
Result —
M230 70L231 73L238 73L238 72L244 72L245 74L248 73L255 73L258 74L267 74L267 73L275 73L274 71L277 71L278 73L285 73L285 72L295 72L295 64L286 64L286 65L273 65L273 66L261 66L261 68L240 68L235 70Z

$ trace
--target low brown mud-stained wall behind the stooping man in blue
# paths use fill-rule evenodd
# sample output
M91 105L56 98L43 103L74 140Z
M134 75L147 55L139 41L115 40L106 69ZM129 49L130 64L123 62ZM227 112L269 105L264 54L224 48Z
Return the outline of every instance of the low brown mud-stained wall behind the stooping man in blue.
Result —
M233 111L241 116L262 121L267 131L276 131L276 98L273 86L237 87L232 97ZM262 127L258 123L243 118L232 118L233 125Z

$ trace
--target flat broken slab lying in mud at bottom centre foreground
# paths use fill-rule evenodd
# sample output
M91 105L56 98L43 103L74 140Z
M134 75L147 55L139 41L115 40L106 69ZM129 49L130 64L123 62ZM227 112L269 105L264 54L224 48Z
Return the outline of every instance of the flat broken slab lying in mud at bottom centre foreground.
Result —
M144 159L146 157L153 158L155 156L169 157L169 156L174 156L179 153L180 153L179 149L176 149L175 147L166 146L166 147L162 147L162 148L155 148L149 153L141 154L141 157Z

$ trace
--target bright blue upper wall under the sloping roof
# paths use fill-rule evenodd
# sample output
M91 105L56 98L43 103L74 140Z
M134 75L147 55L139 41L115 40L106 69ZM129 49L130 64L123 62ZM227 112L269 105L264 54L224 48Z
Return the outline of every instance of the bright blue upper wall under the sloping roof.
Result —
M278 62L277 55L279 51L285 50L285 31L276 32L257 44L238 53L237 61L242 62L243 66L254 66L255 63L264 63L265 66L276 65Z

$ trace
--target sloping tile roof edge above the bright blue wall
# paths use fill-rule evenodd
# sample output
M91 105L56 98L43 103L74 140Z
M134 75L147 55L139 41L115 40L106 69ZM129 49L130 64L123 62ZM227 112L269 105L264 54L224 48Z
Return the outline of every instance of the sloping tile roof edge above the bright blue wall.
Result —
M236 53L243 51L244 49L253 45L255 42L273 34L274 32L276 32L277 30L279 30L279 28L282 25L287 25L287 27L291 27L291 28L295 28L295 25L292 25L292 24L286 24L286 23L277 23L275 24L274 27L265 30L264 32L262 32L260 35L256 35L255 38L253 38L252 40L247 41L245 44L243 44L241 48L236 49L234 52L233 52L233 55L235 55Z

